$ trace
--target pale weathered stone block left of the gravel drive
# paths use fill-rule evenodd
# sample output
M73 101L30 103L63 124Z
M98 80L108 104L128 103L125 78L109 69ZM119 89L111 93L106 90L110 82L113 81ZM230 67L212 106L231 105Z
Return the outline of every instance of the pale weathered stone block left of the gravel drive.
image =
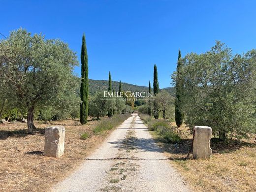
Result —
M59 158L64 154L64 127L45 128L44 156Z

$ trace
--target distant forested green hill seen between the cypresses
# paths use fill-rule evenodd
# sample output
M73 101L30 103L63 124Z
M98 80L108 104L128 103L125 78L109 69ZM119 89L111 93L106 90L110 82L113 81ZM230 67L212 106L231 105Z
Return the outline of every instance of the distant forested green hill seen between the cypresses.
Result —
M119 91L119 82L112 81L112 88L116 92ZM132 84L122 82L122 90L123 91L147 92L148 89L149 88L146 86L138 86L138 85L132 85ZM91 95L94 95L96 92L99 92L99 91L107 91L108 90L108 81L107 80L89 79L89 90L90 90ZM153 88L152 88L152 90L153 90ZM171 93L171 95L175 94L173 87L164 88L162 90L165 90L165 91Z

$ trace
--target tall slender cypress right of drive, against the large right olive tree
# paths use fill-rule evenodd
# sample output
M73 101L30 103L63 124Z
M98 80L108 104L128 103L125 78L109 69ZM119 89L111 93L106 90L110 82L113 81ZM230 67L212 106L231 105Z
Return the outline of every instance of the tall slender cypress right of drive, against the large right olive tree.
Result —
M181 95L183 92L183 82L180 74L181 67L182 67L181 51L179 50L177 70L176 70L177 76L176 76L176 98L175 98L175 122L178 128L182 125L183 118L184 118L183 112L181 110Z

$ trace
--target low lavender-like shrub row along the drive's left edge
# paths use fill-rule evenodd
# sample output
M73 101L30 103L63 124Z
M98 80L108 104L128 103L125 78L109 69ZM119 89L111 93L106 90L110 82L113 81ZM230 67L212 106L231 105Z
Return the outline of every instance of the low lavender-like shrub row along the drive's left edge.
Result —
M112 118L102 119L94 128L94 133L98 134L104 130L109 130L117 127L120 123L124 122L130 114L114 115Z

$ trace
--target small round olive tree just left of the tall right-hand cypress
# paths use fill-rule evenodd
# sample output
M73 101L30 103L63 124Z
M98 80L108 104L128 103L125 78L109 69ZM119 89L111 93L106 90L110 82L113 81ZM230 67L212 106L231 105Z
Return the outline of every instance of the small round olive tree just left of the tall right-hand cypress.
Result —
M154 99L158 110L162 112L163 119L166 119L166 114L172 109L171 105L174 105L174 97L166 91L161 91Z

